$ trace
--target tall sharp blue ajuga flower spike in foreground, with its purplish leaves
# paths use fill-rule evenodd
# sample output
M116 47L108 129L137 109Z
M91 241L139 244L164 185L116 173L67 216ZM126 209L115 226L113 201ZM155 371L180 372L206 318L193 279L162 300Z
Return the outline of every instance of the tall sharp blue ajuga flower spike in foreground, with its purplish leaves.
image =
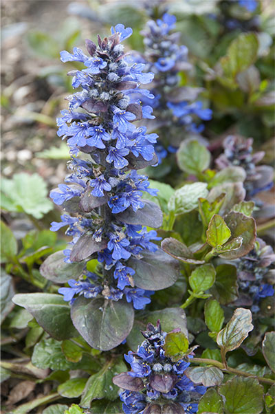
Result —
M143 309L153 290L172 285L178 272L177 262L153 243L159 240L155 230L146 229L162 225L162 211L142 199L156 190L136 170L156 163L157 135L132 122L151 118L152 108L142 100L154 96L140 85L153 74L124 54L121 42L131 33L118 24L109 38L98 36L98 46L86 41L89 56L77 47L61 52L61 61L84 66L69 72L72 86L82 91L67 97L69 109L57 119L72 155L70 173L50 193L69 213L51 230L67 227L72 241L45 260L41 273L68 282L58 292L72 305L76 329L98 349L119 345L131 331L134 309ZM99 263L93 272L90 259Z

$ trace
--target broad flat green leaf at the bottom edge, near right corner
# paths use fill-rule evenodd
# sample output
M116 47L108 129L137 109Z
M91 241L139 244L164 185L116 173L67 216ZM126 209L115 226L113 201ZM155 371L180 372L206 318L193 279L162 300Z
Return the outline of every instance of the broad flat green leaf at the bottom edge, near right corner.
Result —
M260 414L263 409L263 386L256 379L234 377L219 386L225 397L224 413Z

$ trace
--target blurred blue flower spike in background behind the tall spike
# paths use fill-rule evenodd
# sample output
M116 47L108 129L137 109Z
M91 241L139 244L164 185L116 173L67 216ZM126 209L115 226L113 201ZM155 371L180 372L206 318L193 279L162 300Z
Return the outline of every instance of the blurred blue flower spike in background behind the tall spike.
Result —
M147 12L151 20L142 31L144 55L137 61L146 63L146 69L155 74L150 88L155 98L150 105L156 120L148 120L148 127L159 134L155 151L160 164L168 154L177 151L188 133L203 131L201 120L210 120L212 111L203 109L203 103L197 100L201 88L182 85L181 74L192 65L188 61L187 47L178 45L180 34L173 32L176 17L163 12L159 2L155 7L148 6ZM170 164L166 160L164 165L152 171L153 175L160 177L168 173L172 160Z

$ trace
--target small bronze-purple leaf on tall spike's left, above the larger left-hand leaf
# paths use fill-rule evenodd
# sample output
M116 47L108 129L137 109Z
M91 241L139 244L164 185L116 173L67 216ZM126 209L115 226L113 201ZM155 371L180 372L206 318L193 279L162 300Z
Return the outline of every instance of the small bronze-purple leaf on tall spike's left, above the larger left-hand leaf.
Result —
M90 257L93 253L99 252L107 247L107 241L96 241L91 235L84 235L80 237L72 248L72 253L69 257L71 261L83 261Z

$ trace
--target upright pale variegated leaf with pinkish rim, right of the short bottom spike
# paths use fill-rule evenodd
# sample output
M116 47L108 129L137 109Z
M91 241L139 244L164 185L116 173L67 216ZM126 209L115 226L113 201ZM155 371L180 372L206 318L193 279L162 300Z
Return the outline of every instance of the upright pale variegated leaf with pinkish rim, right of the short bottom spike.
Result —
M225 328L221 329L217 335L217 344L223 354L238 348L253 328L250 310L243 307L236 309Z

